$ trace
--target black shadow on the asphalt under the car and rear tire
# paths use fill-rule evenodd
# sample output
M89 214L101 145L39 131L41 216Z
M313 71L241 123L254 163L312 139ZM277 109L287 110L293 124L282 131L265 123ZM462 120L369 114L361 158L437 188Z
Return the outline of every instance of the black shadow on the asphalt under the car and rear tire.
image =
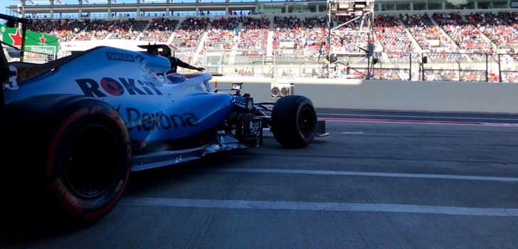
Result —
M231 152L241 154L246 152ZM139 195L175 182L193 181L211 174L206 169L224 167L225 164L236 164L243 157L232 157L231 154L215 154L198 161L191 161L176 166L134 172L130 176L124 196ZM18 174L18 176L21 174ZM31 191L23 187L23 177L4 179L0 185L0 247L37 244L38 241L60 238L83 229L95 227L96 223L83 227L70 226L60 221L59 213L49 209L46 199L38 194L28 195ZM171 184L172 183L172 184ZM17 191L15 191L17 190ZM122 199L124 199L124 196Z

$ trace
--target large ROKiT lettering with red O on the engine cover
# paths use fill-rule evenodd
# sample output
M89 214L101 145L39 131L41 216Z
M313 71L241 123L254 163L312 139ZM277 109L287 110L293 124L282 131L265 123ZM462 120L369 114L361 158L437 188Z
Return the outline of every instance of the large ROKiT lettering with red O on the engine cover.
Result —
M153 83L134 79L119 78L120 82L113 78L102 78L100 83L93 79L78 79L79 88L83 90L86 96L90 97L106 97L107 95L120 96L129 95L164 95Z

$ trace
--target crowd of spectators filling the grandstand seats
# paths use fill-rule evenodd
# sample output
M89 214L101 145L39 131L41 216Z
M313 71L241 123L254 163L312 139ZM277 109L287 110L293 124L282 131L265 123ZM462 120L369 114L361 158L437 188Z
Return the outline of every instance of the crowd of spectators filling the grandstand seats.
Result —
M349 18L349 17L342 17ZM179 48L194 51L199 47L203 34L207 38L203 43L206 49L230 50L238 48L238 55L266 55L268 31L273 31L273 55L284 58L302 58L323 56L327 51L328 28L325 16L312 16L301 19L297 16L275 16L273 25L270 18L252 16L223 16L220 18L187 17L180 25L177 18L159 17L148 21L136 21L132 18L118 18L114 21L85 18L76 19L34 19L30 30L50 33L60 41L99 40L107 38L141 39L149 41L169 41ZM331 26L340 24L335 20ZM207 29L209 24L210 29ZM351 23L356 26L358 21ZM241 28L239 28L241 25ZM177 27L178 26L178 27ZM145 29L144 29L145 28ZM356 27L355 27L356 28ZM357 36L351 26L343 26L332 31L332 51L349 53L359 52L359 46L365 47L367 36ZM174 38L170 38L174 36ZM496 53L517 53L518 49L518 12L477 12L469 15L459 13L397 14L387 16L379 14L374 21L374 43L377 51L384 53L383 58L391 62L408 62L410 56L419 60L421 53L428 57L429 63L460 62L470 63L485 61L483 53L494 54L490 60L497 60ZM415 39L415 41L412 41ZM414 45L418 45L414 47ZM481 56L467 53L482 53ZM227 53L229 56L229 53ZM192 55L185 53L186 60ZM228 61L228 56L224 58ZM507 60L518 61L518 53ZM280 60L279 60L280 61ZM504 63L504 62L502 62ZM395 73L394 73L395 72ZM406 78L402 71L384 71L379 77ZM462 72L462 71L461 71ZM428 72L425 78L439 80L485 80L485 75L477 71L458 73L444 70L443 73ZM483 77L482 77L483 76ZM517 73L502 74L502 80L516 82Z

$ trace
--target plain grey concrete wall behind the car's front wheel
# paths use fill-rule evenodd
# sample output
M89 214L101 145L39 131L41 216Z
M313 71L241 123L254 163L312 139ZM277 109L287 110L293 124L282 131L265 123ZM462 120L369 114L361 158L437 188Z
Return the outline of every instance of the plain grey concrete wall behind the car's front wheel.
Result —
M292 83L295 95L309 97L317 108L424 112L518 113L518 84L448 81L355 80L220 76L218 90L243 83L254 102L271 102L274 84ZM293 93L292 93L293 94Z

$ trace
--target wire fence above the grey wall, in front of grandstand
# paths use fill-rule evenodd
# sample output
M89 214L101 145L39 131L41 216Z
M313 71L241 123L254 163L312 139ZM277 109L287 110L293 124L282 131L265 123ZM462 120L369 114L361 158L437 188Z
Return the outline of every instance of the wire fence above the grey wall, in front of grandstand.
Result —
M264 50L201 51L191 63L223 75L261 77L363 78L367 60L337 56L329 60L314 50L290 50L265 55ZM308 56L309 55L309 56ZM379 53L372 78L384 80L518 83L518 54ZM347 66L349 65L349 66Z

